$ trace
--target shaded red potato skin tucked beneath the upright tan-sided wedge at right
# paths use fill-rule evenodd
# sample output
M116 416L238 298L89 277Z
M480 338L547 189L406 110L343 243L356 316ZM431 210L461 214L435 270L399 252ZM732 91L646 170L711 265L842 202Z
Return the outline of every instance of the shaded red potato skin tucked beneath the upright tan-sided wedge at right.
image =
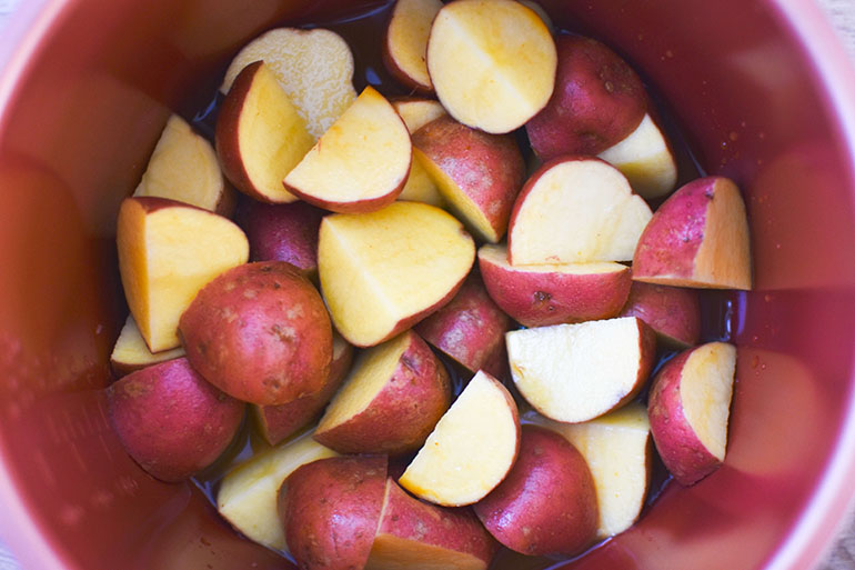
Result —
M673 347L687 348L701 338L701 302L694 289L633 281L620 317L640 318Z

